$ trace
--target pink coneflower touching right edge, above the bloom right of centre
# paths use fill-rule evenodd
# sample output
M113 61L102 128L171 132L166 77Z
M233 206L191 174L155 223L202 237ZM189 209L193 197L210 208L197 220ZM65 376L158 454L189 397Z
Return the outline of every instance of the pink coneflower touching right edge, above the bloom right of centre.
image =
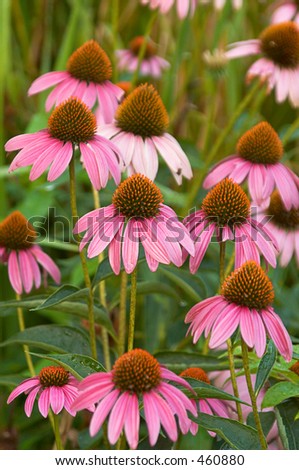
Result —
M218 163L203 182L205 189L222 179L232 178L236 183L247 181L254 204L269 205L276 187L287 210L299 207L299 178L280 162L283 146L274 129L260 122L239 139L237 153Z

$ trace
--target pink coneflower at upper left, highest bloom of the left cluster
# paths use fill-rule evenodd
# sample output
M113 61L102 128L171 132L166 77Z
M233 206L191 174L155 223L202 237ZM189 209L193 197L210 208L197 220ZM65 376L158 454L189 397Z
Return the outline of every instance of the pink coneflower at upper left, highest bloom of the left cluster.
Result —
M98 103L104 121L111 122L123 95L123 90L110 81L111 77L110 59L96 41L90 40L73 52L66 71L41 75L34 80L28 94L31 96L55 86L47 98L46 111L73 96L90 108Z

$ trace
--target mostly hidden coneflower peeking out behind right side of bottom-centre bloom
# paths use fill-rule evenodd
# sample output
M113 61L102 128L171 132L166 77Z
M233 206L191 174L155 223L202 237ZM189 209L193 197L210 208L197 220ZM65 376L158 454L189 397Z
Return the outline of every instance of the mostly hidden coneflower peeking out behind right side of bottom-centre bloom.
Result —
M181 372L180 376L184 378L199 380L207 384L211 383L208 374L200 367L189 367L188 369ZM219 398L191 398L191 401L195 404L198 411L200 411L201 413L220 416L221 418L229 418L228 407L224 400L220 400ZM195 436L197 434L197 431L198 424L192 421L190 426L190 432ZM209 433L212 436L215 436L214 432L209 431Z

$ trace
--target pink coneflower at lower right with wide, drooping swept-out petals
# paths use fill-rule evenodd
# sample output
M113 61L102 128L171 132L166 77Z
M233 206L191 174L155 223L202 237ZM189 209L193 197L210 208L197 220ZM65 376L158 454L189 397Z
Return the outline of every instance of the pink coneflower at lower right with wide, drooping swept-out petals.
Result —
M266 335L274 342L286 361L292 359L292 342L271 303L273 286L254 261L247 261L230 274L221 286L220 295L199 302L188 312L185 322L191 323L193 342L203 333L210 335L209 347L214 349L229 339L239 327L249 348L261 357L266 348Z

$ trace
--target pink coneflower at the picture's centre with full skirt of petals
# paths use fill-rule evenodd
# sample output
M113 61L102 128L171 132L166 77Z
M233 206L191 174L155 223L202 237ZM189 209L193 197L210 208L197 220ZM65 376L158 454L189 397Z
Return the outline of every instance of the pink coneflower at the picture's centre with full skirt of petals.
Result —
M115 274L120 272L121 256L126 272L133 272L140 242L151 271L159 263L181 266L181 246L194 254L194 245L175 212L162 202L159 188L149 178L130 176L114 192L112 204L78 220L74 233L86 232L80 249L90 242L87 254L93 258L109 245L109 261Z

